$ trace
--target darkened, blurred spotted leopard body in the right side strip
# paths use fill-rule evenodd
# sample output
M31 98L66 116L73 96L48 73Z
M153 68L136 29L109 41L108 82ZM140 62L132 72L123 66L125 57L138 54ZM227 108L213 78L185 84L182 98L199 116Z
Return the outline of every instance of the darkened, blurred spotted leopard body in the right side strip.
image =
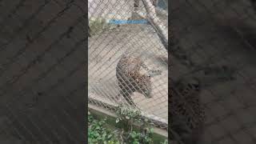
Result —
M177 139L183 143L198 144L206 120L205 109L199 98L201 82L197 78L187 78L170 83L170 129L177 133Z

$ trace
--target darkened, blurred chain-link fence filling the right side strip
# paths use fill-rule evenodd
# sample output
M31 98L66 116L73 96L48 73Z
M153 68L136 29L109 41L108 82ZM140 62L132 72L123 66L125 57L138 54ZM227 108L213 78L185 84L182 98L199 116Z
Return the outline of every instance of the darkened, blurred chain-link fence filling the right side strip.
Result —
M200 83L200 93L190 89L186 98L196 100L191 106L198 106L199 98L205 111L200 121L204 144L256 143L254 6L250 0L171 3L170 77L174 82L195 78ZM194 110L190 118L198 120L203 113Z

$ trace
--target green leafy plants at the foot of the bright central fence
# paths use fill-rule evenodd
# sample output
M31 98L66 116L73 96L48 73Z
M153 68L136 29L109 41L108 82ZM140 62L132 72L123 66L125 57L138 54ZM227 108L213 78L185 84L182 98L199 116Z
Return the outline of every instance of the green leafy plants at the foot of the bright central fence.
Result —
M116 123L122 122L122 130L110 130L106 127L106 118L96 120L88 111L88 142L89 144L153 144L153 132L147 119L142 119L139 110L131 107L118 106ZM134 122L140 123L134 130ZM168 141L160 142L167 144Z

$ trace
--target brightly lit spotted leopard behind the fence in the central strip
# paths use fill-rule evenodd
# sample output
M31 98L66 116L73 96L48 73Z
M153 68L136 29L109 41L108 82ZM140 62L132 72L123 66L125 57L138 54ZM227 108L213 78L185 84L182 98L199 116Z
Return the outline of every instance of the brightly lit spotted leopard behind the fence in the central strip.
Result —
M145 98L152 98L151 78L154 74L161 74L161 70L150 70L138 54L122 54L116 66L119 94L126 99L130 106L136 106L131 95L134 92L143 94Z

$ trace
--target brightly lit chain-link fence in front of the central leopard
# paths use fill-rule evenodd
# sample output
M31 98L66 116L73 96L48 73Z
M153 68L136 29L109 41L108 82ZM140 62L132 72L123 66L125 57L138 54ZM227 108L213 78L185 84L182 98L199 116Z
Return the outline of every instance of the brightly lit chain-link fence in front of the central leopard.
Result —
M113 110L125 103L167 128L166 2L89 1L90 104Z

